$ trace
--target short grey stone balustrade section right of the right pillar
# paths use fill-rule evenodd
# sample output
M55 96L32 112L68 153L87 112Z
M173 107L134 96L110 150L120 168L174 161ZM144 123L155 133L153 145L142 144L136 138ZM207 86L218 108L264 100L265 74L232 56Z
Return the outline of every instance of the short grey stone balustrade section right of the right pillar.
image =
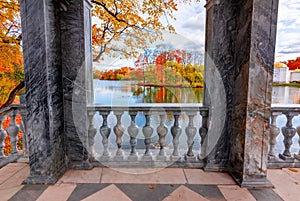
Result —
M299 114L300 108L273 107L271 109L268 153L268 165L270 168L300 167ZM277 122L279 117L280 122L282 122L283 116L286 118L286 124L279 128ZM295 150L297 151L295 152Z

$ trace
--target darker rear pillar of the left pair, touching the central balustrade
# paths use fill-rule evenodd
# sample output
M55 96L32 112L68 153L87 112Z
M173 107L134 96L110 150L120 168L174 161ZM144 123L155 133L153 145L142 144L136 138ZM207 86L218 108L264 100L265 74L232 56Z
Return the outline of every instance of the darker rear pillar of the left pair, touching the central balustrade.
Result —
M92 95L91 4L73 0L60 12L66 156L70 168L90 169L87 104Z

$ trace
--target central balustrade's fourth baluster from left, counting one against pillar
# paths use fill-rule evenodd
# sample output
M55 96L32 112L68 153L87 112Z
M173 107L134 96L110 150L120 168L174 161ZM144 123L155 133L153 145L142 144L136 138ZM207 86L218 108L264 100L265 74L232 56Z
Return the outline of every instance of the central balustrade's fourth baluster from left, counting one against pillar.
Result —
M135 124L135 117L136 117L137 112L136 111L129 111L129 115L131 118L131 123L130 126L127 128L128 134L130 136L130 155L128 156L128 160L137 160L138 159L138 154L135 149L136 145L136 137L139 133L139 129L137 125Z

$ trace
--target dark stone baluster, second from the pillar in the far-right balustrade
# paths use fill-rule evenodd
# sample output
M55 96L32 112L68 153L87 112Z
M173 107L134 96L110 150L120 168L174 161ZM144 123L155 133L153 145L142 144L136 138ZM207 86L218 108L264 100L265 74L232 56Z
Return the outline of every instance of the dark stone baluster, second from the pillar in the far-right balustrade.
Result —
M292 120L293 120L294 116L296 116L297 114L293 113L293 112L286 112L283 114L285 114L285 116L287 118L286 126L281 128L281 131L284 136L283 143L284 143L285 149L282 154L279 154L279 158L281 158L282 160L293 161L294 159L291 156L290 149L291 149L291 145L293 144L293 137L296 134L296 129L293 128Z

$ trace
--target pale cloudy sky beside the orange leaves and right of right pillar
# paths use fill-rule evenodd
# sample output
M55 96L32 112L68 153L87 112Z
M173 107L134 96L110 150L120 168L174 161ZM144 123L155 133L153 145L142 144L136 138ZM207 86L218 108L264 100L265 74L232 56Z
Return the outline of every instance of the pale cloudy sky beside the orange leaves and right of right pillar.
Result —
M178 11L174 13L176 21L170 21L177 34L165 32L164 41L157 41L149 46L155 47L164 43L176 49L200 48L204 51L205 3L206 1L202 0L200 3L192 2L190 5L179 4ZM296 59L298 56L300 56L300 0L279 0L275 62ZM134 67L134 59L104 60L101 65L94 63L95 67L107 66L107 69L119 68L122 65Z

